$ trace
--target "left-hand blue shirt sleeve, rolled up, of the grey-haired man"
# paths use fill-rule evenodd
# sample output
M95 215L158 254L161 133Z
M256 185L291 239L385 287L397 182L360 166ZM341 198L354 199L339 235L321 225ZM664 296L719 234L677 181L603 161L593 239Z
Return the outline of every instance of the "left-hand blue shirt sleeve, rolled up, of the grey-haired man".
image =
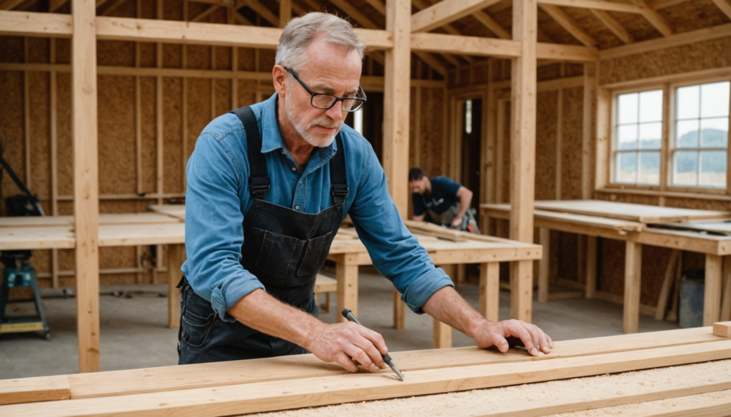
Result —
M210 299L222 320L226 310L264 286L241 264L243 214L240 164L226 142L201 134L186 168L186 279L193 291Z

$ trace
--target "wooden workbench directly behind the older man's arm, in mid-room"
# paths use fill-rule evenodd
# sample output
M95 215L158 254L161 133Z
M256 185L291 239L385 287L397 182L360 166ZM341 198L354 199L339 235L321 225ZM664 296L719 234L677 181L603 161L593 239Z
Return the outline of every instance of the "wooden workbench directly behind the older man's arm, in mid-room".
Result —
M412 224L411 222L407 223ZM416 232L417 235L428 233L425 232L425 229L414 229L412 232ZM463 241L454 242L437 238L420 240L420 243L431 256L433 263L436 266L443 267L452 278L454 278L452 266L480 264L480 313L488 320L498 321L500 262L532 262L541 259L542 248L531 243L482 235L479 236L480 240L471 240L473 237L462 232L448 231L448 229L435 230L435 234L450 232L455 237L462 236L463 239L461 240ZM338 234L344 233L352 234L355 231L354 229L341 229L341 232L338 232ZM474 239L477 238L474 237ZM336 240L330 247L330 255L327 259L336 263L336 279L338 281L337 311L349 308L357 315L358 267L373 264L371 256L368 255L368 250L360 240ZM511 316L515 316L512 312L516 310L531 311L532 302L532 291L528 294L513 291L510 300ZM393 293L393 308L394 327L403 329L404 302L401 302L401 294L398 294L398 291L395 290ZM338 321L345 321L345 318L338 315ZM448 348L452 345L452 329L449 326L434 319L433 329L434 348Z

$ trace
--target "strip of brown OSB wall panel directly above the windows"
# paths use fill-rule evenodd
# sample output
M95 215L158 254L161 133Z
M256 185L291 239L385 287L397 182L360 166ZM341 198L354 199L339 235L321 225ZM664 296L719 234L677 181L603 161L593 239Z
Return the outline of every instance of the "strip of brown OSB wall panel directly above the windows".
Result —
M599 62L599 84L731 66L731 37Z

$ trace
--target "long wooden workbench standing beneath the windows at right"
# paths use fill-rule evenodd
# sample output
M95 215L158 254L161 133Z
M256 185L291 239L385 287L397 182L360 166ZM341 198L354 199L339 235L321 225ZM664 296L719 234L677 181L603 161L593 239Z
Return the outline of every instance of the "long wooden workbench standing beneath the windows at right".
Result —
M708 326L721 319L721 283L723 262L731 254L731 236L704 234L690 230L662 229L664 223L689 222L697 224L721 223L707 220L729 218L729 212L673 209L643 204L569 200L567 202L535 202L534 225L540 228L539 242L549 253L550 230L588 236L586 245L587 298L596 294L596 238L626 242L624 265L624 332L638 330L640 314L640 271L642 245L659 246L673 250L705 253L705 295L703 324ZM481 204L482 215L509 219L510 204ZM704 220L705 219L705 220ZM677 223L682 226L686 223ZM539 263L538 299L548 301L549 256ZM729 287L727 285L727 287ZM731 302L731 300L730 300Z

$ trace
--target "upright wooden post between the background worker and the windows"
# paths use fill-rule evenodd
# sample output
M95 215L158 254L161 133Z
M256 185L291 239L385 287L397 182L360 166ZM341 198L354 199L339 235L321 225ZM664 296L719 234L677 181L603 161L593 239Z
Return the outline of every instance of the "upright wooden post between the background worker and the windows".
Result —
M533 242L536 159L537 2L514 0L512 39L520 58L512 60L512 138L510 140L510 239ZM510 317L531 321L533 261L510 264Z

